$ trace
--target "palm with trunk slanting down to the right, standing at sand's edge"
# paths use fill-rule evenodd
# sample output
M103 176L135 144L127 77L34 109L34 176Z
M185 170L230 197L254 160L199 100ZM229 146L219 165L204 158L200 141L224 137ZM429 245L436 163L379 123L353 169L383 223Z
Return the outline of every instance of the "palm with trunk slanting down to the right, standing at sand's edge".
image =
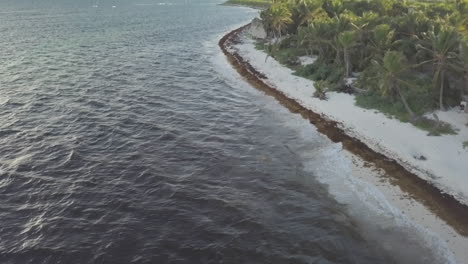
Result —
M405 106L411 120L414 120L416 115L411 110L402 91L402 85L408 86L408 82L404 80L405 74L408 71L405 55L397 51L387 51L382 63L373 60L373 64L378 72L378 76L376 77L379 80L379 90L381 93L383 95L397 95Z

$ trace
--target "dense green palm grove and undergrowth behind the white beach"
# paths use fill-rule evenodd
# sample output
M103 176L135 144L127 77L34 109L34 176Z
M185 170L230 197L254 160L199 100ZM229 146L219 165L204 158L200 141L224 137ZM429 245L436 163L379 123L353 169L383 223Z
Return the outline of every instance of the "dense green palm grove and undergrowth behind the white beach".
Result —
M468 93L468 0L272 0L260 17L270 39L257 48L323 81L317 97L357 90L361 107L432 135L454 133L423 115ZM318 59L300 66L303 55Z

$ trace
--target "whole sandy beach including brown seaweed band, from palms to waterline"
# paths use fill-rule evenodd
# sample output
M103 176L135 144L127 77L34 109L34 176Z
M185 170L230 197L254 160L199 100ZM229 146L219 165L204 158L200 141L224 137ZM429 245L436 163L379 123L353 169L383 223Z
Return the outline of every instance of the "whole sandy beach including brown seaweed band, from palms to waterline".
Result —
M332 141L341 142L353 160L354 177L376 186L392 206L442 238L457 262L465 263L468 259L465 250L468 248L468 174L463 172L468 171L468 151L461 144L454 144L464 136L468 138L468 132L465 135L463 127L459 127L461 133L455 139L427 137L424 131L409 124L356 107L350 95L330 94L328 101L313 98L310 80L292 75L290 69L272 58L265 61L266 54L242 36L243 29L231 32L220 41L237 71L253 86L309 119ZM464 117L454 111L439 116L452 122ZM406 133L412 134L406 137ZM392 151L399 147L403 154ZM446 151L452 156L445 156ZM422 162L415 158L421 155L428 160ZM445 164L445 160L450 162ZM442 176L436 176L437 173Z

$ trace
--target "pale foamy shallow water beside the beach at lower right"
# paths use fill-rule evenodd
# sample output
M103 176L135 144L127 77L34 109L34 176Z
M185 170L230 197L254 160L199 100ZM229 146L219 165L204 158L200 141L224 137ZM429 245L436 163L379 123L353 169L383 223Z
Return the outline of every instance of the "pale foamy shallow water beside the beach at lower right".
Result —
M313 156L305 169L347 206L348 214L365 227L367 239L383 242L386 251L405 263L456 263L445 241L392 206L374 185L353 177L351 161L343 155L341 144L305 155Z

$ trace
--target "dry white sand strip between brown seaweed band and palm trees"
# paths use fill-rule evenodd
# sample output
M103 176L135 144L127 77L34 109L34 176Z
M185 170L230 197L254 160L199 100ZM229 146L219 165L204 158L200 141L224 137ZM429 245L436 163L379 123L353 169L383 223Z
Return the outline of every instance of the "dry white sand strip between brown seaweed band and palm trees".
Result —
M313 82L292 75L293 71L255 49L252 40L235 46L238 54L265 74L265 82L305 108L337 122L347 135L359 139L408 171L468 205L468 115L450 110L437 112L440 120L451 124L457 135L428 136L410 123L391 119L375 110L357 107L353 95L329 92L328 99L312 95Z

